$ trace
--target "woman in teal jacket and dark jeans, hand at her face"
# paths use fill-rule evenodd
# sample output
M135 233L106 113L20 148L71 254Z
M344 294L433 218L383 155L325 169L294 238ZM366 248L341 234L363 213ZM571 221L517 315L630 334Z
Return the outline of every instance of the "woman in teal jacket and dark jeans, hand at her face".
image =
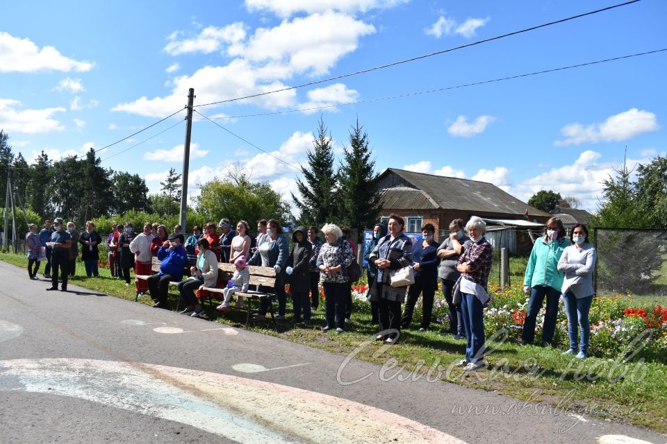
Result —
M568 246L563 223L557 217L547 221L544 235L536 239L528 259L526 275L523 278L523 291L530 293L526 319L523 323L520 342L532 343L535 339L535 321L546 296L547 309L542 326L542 343L551 345L556 331L558 301L561 297L563 273L558 271L558 261L563 250Z

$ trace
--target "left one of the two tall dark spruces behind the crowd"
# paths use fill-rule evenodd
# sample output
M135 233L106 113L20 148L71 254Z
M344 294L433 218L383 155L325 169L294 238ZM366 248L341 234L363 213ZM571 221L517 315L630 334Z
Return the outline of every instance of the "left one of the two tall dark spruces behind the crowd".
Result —
M300 221L306 225L338 221L336 193L338 182L334 171L334 146L331 135L320 116L318 135L313 140L313 150L308 150L308 166L301 167L304 181L297 179L301 198L292 193L295 205L301 213Z

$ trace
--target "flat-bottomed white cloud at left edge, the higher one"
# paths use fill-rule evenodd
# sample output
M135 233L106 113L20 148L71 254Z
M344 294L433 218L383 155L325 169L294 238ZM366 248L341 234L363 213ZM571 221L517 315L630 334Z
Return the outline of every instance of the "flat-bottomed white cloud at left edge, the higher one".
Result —
M0 72L90 71L91 62L77 62L53 46L40 49L29 39L0 32Z

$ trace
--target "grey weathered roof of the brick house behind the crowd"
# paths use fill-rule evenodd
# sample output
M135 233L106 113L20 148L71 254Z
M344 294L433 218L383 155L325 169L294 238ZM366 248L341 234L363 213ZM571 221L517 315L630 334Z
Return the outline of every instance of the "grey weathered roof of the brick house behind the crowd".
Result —
M407 192L405 187L410 187L423 191L428 197L430 205L436 205L435 208L504 214L524 214L527 209L529 216L550 216L549 213L527 205L527 203L488 182L415 173L414 171L396 168L388 168L383 171L380 174L379 182L381 183L383 178L388 178L392 174L402 178L404 184L404 187L394 189L402 189L403 192ZM388 192L390 191L384 191L385 194ZM412 196L414 198L417 195L413 194ZM425 200L419 200L419 202L425 204ZM415 200L414 203L418 203L418 200ZM384 206L393 208L389 205ZM411 207L415 210L432 208L434 207Z

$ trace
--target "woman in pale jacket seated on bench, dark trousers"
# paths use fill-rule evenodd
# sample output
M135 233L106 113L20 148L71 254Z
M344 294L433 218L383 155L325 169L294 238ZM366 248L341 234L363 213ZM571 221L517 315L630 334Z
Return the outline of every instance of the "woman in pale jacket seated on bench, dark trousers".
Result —
M211 244L208 240L200 238L197 241L197 255L196 266L190 267L192 276L186 280L179 282L179 293L181 293L181 300L188 304L186 309L181 311L181 314L188 314L193 318L198 318L204 313L204 308L201 307L195 290L201 287L215 287L217 284L217 257L211 251Z

